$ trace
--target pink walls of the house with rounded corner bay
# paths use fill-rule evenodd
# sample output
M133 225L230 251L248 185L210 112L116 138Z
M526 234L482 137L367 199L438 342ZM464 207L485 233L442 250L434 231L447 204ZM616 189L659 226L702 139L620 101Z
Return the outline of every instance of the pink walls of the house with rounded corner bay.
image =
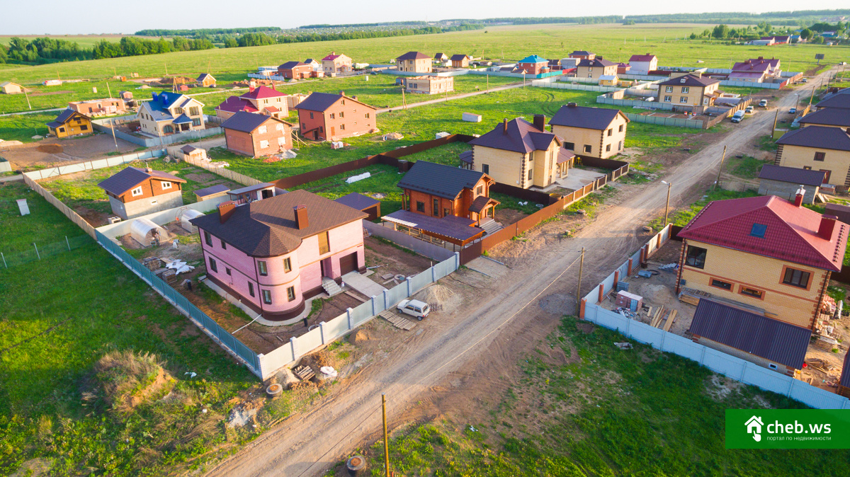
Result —
M212 245L208 245L204 239L204 231L199 228L198 233L201 236L201 247L204 252L207 274L228 285L233 291L241 295L243 300L249 300L254 306L261 307L263 311L269 313L285 313L301 306L303 292L321 286L321 261L330 258L330 278L340 277L339 259L353 252L357 253L357 267L365 266L361 221L350 222L331 229L328 233L330 252L323 255L319 254L317 236L303 239L297 250L290 254L256 258L246 255L232 245L222 249L221 240L214 235L212 235ZM210 257L215 259L218 272L213 272L210 268ZM286 272L284 268L283 261L286 258L289 258L292 264L290 272ZM259 275L258 261L266 262L268 271L266 276ZM226 268L230 269L230 275L227 274ZM253 284L254 296L248 293L248 283ZM295 300L288 300L286 289L289 287L295 287ZM270 305L263 302L262 290L264 289L271 293L272 303Z

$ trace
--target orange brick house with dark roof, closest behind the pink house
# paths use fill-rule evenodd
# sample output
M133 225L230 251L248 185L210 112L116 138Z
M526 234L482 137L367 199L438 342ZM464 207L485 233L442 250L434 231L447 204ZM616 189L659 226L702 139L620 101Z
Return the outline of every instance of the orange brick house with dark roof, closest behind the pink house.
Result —
M224 121L227 149L250 157L292 149L292 125L273 116L240 111Z

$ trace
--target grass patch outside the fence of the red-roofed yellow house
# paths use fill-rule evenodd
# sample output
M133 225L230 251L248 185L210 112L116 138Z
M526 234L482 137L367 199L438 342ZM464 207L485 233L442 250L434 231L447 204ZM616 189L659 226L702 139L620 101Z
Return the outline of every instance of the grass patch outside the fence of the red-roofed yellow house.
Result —
M399 429L390 466L405 475L795 475L838 476L846 450L727 450L728 408L801 404L752 386L723 384L707 368L564 317L521 356L501 396L483 396L478 422L439 420ZM592 329L586 333L587 329ZM566 356L558 359L557 356ZM717 380L719 379L719 381ZM382 474L382 442L366 450ZM757 469L757 470L754 470Z

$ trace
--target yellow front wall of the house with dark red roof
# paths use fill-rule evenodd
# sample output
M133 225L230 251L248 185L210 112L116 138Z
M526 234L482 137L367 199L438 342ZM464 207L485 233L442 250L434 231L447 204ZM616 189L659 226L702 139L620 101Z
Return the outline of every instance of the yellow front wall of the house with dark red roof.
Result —
M686 240L684 243L707 251L705 267L702 269L685 265L683 261L682 279L686 282L682 284L683 287L756 306L767 311L770 317L812 328L824 280L828 275L825 270L694 240ZM687 255L687 249L685 253ZM808 289L782 283L785 267L809 272ZM712 286L713 279L732 283L732 289ZM762 299L742 295L742 287L762 290Z

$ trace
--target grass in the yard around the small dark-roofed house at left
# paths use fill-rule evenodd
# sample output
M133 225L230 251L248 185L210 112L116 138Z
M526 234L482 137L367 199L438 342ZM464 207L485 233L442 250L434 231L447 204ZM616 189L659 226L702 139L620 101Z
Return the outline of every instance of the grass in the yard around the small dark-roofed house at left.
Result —
M142 167L142 162L156 171L169 172L177 177L186 179L186 182L183 184L184 204L194 203L195 190L209 187L209 185L212 185L209 182L217 180L218 182L227 182L224 177L217 176L212 172L201 169L200 167L192 166L182 161L166 163L159 159L145 160L139 161L138 164L133 162L133 166ZM116 172L122 171L127 166L130 166L130 164L82 172L73 179L53 179L39 183L43 188L48 189L51 194L54 194L56 199L61 200L65 205L71 207L71 209L84 206L91 210L110 213L111 206L109 204L109 199L106 197L104 189L99 188L98 183L107 177L111 177ZM186 177L193 173L199 175L202 174L202 177L207 178L207 182L197 182Z

